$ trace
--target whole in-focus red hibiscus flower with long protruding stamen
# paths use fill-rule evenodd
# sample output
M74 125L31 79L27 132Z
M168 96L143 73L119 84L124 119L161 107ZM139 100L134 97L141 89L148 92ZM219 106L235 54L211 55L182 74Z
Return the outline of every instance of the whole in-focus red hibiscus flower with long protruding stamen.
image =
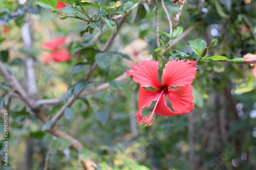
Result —
M140 84L139 111L135 118L138 125L151 126L154 122L155 113L163 116L181 115L190 112L194 108L193 86L191 83L197 74L194 67L196 61L172 60L165 64L162 75L162 84L159 83L158 61L142 61L133 65L133 71L127 70L126 76L133 76L133 80ZM156 91L145 90L143 87L153 87ZM178 88L170 88L178 87ZM172 111L166 105L166 96L172 104ZM142 116L143 108L150 107L153 101L157 101L153 111Z

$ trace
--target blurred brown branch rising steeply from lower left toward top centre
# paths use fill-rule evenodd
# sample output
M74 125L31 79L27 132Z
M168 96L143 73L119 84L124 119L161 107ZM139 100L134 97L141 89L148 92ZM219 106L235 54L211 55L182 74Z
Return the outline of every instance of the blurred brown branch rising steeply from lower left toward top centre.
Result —
M119 31L120 31L121 27L123 26L125 20L126 20L125 17L123 17L123 18L120 20L120 22L119 22L118 25L117 25L117 32L113 32L113 33L111 34L110 38L108 39L108 41L105 43L105 45L104 45L103 48L102 48L102 53L109 51L110 47L112 46L112 44L113 44L113 42L114 42L114 39L115 39L116 35L119 33ZM93 77L95 71L97 70L97 68L98 68L98 65L97 65L96 62L94 62L94 63L93 63L93 66L92 66L91 70L89 71L89 73L88 73L88 75L87 75L87 78L86 78L86 80L87 80L88 82L92 79L92 77ZM63 116L65 109L68 108L68 107L70 107L70 106L76 101L76 99L79 98L79 95L81 94L81 92L82 92L82 91L84 90L84 88L86 88L86 87L87 87L87 86L84 86L84 87L80 90L80 92L77 94L77 96L72 95L72 96L68 99L68 102L65 103L65 104L60 108L60 110L51 118L51 121L53 122L53 124L52 124L52 126L51 126L50 128L53 128L53 127L56 125L57 120L59 120L59 119Z

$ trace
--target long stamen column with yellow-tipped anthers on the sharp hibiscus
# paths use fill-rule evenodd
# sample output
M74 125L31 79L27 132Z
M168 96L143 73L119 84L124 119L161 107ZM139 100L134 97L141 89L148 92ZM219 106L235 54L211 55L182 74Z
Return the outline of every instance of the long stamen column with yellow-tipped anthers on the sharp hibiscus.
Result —
M153 111L150 111L150 113L147 114L147 115L145 115L140 121L135 120L135 121L138 123L138 124L137 124L138 126L139 126L139 125L142 125L142 124L145 124L144 127L146 127L146 126L151 126L151 125L153 124L153 122L155 121L155 116L156 116L155 110L156 110L156 108L157 108L157 104L158 104L158 102L159 102L159 100L160 100L160 98L161 98L161 96L163 95L163 92L164 92L165 90L166 90L166 88L163 88L162 92L160 93L160 95L159 95L159 97L158 97L158 99L157 99L157 103L156 103L156 105L155 105Z

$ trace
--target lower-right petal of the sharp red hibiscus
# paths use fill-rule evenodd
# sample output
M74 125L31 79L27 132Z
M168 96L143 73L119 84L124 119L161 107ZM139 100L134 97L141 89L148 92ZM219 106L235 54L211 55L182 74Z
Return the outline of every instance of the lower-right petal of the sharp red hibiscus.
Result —
M189 113L194 108L193 103L193 86L188 84L183 87L175 89L169 89L167 92L167 97L172 104L175 112L180 114Z

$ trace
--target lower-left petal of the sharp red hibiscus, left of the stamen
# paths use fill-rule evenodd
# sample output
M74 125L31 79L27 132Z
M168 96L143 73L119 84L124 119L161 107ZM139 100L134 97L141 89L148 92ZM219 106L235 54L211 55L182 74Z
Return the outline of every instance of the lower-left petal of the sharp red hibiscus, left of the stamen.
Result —
M138 118L140 121L142 119L142 111L143 108L150 107L153 101L157 101L159 95L161 94L160 90L157 91L149 91L145 90L142 86L140 86L139 91L139 111L137 112L135 118Z

